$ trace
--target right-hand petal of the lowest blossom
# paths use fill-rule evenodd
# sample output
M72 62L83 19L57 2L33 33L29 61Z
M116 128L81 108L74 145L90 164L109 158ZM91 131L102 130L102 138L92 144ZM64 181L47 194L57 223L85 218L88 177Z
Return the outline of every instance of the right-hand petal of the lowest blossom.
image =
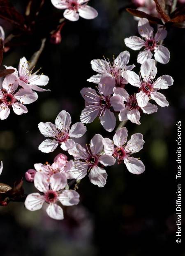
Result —
M58 197L61 204L66 206L72 206L79 203L79 193L74 190L64 190Z

